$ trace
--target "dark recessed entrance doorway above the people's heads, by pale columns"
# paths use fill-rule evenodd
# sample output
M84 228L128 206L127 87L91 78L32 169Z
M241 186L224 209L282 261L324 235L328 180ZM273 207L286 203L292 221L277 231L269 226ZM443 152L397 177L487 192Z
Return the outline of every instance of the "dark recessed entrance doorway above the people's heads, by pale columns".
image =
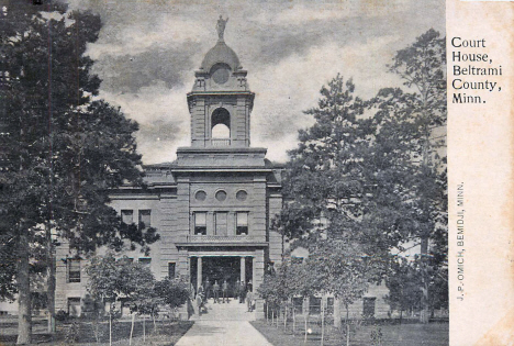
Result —
M244 264L242 264L242 260ZM201 257L201 269L199 270L199 260L198 257L191 257L191 267L190 267L190 278L191 283L194 286L195 291L198 291L199 275L201 275L201 282L204 288L206 281L208 286L212 289L212 286L215 281L220 284L220 288L223 284L223 281L226 280L228 283L228 297L234 298L237 295L237 288L241 283L241 276L244 266L244 277L245 283L248 283L253 278L253 258L252 257L239 257L239 256L219 256L211 257L205 256ZM208 297L212 297L208 292Z

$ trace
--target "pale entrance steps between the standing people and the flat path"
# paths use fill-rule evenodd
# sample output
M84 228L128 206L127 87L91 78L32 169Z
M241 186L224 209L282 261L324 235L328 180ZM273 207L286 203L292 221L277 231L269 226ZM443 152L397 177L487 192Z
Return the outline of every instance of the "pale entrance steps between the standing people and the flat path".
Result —
M231 299L228 303L215 303L214 299L209 299L205 304L208 309L201 315L198 314L198 308L194 306L194 314L191 321L255 321L255 311L248 312L245 303L239 303L236 299Z

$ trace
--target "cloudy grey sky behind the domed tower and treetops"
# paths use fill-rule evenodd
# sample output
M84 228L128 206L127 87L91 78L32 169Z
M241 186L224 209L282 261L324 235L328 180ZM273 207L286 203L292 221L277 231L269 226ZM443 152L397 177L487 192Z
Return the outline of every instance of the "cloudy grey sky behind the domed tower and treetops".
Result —
M299 129L313 120L321 87L340 72L370 98L400 86L386 65L428 29L444 33L444 0L68 0L101 14L103 27L88 48L103 80L100 97L136 120L145 164L171 161L187 146L186 93L194 70L228 16L225 42L248 70L256 93L252 145L284 161Z

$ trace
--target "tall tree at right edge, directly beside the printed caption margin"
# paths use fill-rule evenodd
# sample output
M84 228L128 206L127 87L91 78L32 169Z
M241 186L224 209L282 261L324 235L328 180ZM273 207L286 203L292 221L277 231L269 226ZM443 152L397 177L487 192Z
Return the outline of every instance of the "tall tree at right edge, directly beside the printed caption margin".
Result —
M382 176L395 178L380 186L395 190L395 200L401 201L399 210L404 214L399 232L403 242L399 243L418 239L421 245L424 323L429 317L431 282L446 270L446 143L438 131L446 123L447 112L445 47L445 38L429 30L399 51L390 70L404 80L407 90L381 90L372 102L379 109L377 143L388 161ZM394 145L394 139L401 144Z

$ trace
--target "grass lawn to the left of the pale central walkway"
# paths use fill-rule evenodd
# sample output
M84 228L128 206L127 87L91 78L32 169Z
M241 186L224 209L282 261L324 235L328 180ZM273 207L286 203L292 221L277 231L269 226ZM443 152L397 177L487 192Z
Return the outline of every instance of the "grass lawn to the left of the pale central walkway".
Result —
M143 336L143 322L137 321L134 325L134 335L132 345L134 346L171 346L186 334L193 325L191 321L158 321L156 330L152 321L146 321L146 335ZM11 346L16 342L16 320L0 320L0 345ZM131 321L116 321L113 324L112 341L113 345L127 346L131 335ZM97 336L99 343L97 343ZM70 339L76 339L71 343ZM56 346L56 345L77 345L96 346L109 345L109 325L107 321L96 325L90 321L76 320L72 322L58 323L57 333L52 338L46 333L46 321L38 320L33 323L33 345Z

